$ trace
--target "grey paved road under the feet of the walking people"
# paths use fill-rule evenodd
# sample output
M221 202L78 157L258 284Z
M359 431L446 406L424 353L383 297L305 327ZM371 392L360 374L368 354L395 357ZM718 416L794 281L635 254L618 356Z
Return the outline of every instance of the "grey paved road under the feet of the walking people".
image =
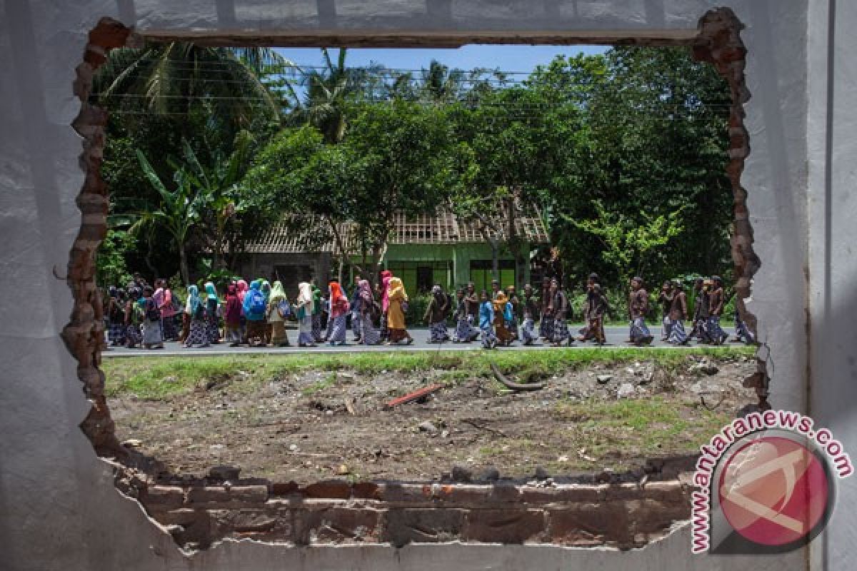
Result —
M572 327L572 331L577 331L580 325ZM605 327L605 333L607 334L607 344L604 346L605 348L616 348L616 347L631 347L625 343L625 340L628 338L628 328L620 327L620 326L608 326ZM732 327L724 327L730 338L734 336L734 328ZM390 351L390 350L463 350L463 349L479 349L482 348L482 344L480 342L472 342L472 343L452 343L446 342L440 345L436 343L428 343L428 330L422 328L411 329L411 336L414 337L414 342L410 346L401 345L399 347L387 347L384 345L375 345L366 347L364 345L358 345L357 343L351 342L351 331L349 331L348 339L349 342L345 347L330 347L327 344L319 345L315 348L298 348L297 346L292 347L266 347L266 348L248 348L247 346L242 347L229 347L225 343L220 343L219 345L212 345L207 348L184 348L181 343L173 342L166 343L165 348L163 349L128 349L128 348L108 348L105 350L103 355L105 357L127 357L130 355L202 355L202 354L252 354L252 353L299 353L299 352L312 352L312 353L356 353L356 352L372 352L372 351ZM662 342L660 340L660 328L659 327L651 327L652 335L655 336L655 341L652 342L652 347L668 347L675 349L682 349L684 347L675 347L674 345L670 345L667 342ZM295 342L297 339L297 330L288 330L289 338L291 342ZM450 330L450 334L452 334L452 330ZM729 345L740 345L740 343L728 343ZM697 345L696 342L691 342L690 347L694 347ZM575 342L572 348L595 348L597 347L594 343L590 342ZM512 344L511 348L499 348L500 351L521 351L521 350L539 350L550 348L550 345L545 345L543 343L532 345L530 347L524 347L521 343L516 342Z

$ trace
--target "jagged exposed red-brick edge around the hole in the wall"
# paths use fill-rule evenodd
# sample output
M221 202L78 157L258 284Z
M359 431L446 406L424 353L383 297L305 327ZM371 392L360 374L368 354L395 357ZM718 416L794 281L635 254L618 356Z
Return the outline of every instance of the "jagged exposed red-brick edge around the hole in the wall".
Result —
M740 186L740 173L749 152L742 104L746 103L749 93L746 92L743 74L746 51L740 42L739 32L740 22L729 10L714 10L700 21L698 37L686 44L692 45L698 60L716 66L732 92L727 172L734 194L732 253L737 278L735 289L739 311L755 330L755 318L743 306L743 300L750 295L752 275L758 270L759 260L752 250L746 191ZM676 478L680 467L692 466L692 457L651 462L649 473L644 478L660 477L664 480L658 483L641 486L638 477L631 474L624 477L586 475L573 482L570 480L568 487L530 494L527 486L515 483L469 487L404 482L358 482L352 485L338 481L298 486L264 479L232 481L234 478L228 473L213 474L207 479L181 478L159 473L163 467L158 461L121 446L105 399L104 374L99 368L104 342L103 308L94 283L94 254L105 235L108 208L109 191L99 174L107 116L104 110L88 103L88 94L93 71L105 61L106 52L128 45L129 38L134 40L127 28L117 22L101 21L90 34L84 63L77 69L75 94L83 104L74 126L84 138L82 164L86 180L78 199L83 213L81 233L75 240L69 259L69 286L75 297L75 310L69 325L63 330L63 339L78 360L79 378L84 383L87 398L93 402L81 429L92 440L99 455L113 458L116 462L117 486L129 495L139 497L156 520L170 526L179 544L205 547L224 537L296 544L326 541L404 544L411 540L454 538L491 541L496 536L494 539L488 537L485 527L496 527L490 523L494 518L512 521L501 534L504 543L541 541L630 547L662 536L669 522L686 519L689 512L687 488ZM621 43L615 39L611 41ZM628 40L632 41L639 45L659 43L656 40ZM764 367L764 362L759 361L758 372L745 381L746 387L757 390L758 403L755 406L763 408L769 406L768 377ZM227 480L227 485L224 480ZM635 520L637 523L630 525L625 501L637 496L652 501L652 513L648 519L639 517L638 521ZM295 497L302 498L297 507L284 499ZM315 508L309 509L309 504L304 503L307 498L317 500ZM567 504L565 509L552 511L544 507L558 500ZM592 501L596 501L598 507L580 508L579 503ZM363 507L355 508L356 502ZM397 502L400 503L397 508L391 509ZM399 509L402 503L413 509L438 510L438 515L434 512L414 514L402 511ZM670 508L665 508L663 503L669 504ZM284 504L291 507L286 508ZM446 515L440 515L441 511ZM624 523L592 523L602 517ZM428 523L421 518L428 518ZM649 521L649 527L645 521ZM434 532L425 532L426 529L434 529Z

